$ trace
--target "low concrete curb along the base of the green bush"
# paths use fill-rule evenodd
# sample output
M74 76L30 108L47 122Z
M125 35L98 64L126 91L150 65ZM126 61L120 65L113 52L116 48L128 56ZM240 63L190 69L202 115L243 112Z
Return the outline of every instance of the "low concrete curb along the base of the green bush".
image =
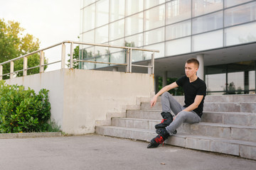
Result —
M25 133L0 133L0 139L31 138L31 137L60 137L61 132L25 132Z

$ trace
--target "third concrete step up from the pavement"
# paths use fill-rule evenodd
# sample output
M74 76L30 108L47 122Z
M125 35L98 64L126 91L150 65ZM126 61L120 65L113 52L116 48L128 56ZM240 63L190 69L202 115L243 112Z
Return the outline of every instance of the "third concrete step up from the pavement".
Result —
M161 111L127 110L127 118L161 120ZM204 111L201 122L223 123L225 125L256 126L255 113L240 112L208 112Z

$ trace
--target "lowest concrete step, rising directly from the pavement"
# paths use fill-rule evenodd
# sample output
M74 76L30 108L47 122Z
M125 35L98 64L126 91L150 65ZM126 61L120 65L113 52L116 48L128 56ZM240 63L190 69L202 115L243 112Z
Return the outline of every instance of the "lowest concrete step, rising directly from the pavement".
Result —
M144 140L147 142L156 136L154 130L114 126L97 126L96 132L99 135L124 137L133 140ZM201 135L176 134L169 137L165 143L178 147L186 147L190 149L218 152L223 154L232 154L235 156L256 160L256 142L225 140L218 137L205 137Z

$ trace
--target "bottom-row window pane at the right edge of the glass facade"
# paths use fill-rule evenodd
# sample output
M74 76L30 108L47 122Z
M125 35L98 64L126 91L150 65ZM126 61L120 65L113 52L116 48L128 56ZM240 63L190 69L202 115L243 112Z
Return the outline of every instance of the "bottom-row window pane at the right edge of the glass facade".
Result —
M256 22L225 29L225 46L256 41ZM246 31L241 31L246 30Z

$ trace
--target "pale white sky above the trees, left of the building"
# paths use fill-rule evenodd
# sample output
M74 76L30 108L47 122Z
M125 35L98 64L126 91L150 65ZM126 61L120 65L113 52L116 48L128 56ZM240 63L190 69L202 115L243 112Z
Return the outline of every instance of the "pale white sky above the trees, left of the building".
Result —
M64 40L79 41L80 0L0 0L0 18L21 23L24 33L39 39L40 49ZM70 53L70 46L66 49ZM60 60L60 54L56 47L46 50L45 56L53 62Z

